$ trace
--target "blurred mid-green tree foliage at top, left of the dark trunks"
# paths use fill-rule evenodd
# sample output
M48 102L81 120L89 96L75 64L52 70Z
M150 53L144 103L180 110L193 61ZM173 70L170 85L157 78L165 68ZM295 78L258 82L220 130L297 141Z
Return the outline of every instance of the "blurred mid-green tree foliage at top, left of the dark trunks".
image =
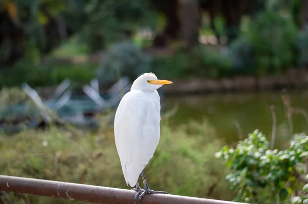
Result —
M156 27L156 15L148 1L90 0L84 12L88 20L82 34L90 50L106 48L110 43L128 39L142 27Z

